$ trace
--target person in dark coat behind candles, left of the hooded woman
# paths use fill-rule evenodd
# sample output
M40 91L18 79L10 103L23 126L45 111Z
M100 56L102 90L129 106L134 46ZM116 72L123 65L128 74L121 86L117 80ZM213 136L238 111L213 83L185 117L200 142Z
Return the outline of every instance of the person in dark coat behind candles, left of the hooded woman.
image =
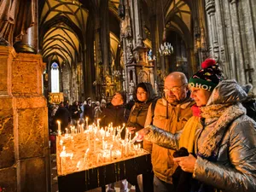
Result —
M130 111L125 108L126 95L125 92L116 92L108 104L107 108L104 108L101 114L101 126L108 126L113 123L114 126L123 125L127 122ZM126 179L119 182L120 191L128 191L128 182ZM114 183L108 184L107 192L115 191Z

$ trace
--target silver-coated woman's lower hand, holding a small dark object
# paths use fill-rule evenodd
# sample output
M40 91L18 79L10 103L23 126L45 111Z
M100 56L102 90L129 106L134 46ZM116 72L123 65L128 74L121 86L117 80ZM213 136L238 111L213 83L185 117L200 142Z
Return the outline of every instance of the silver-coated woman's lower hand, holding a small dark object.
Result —
M173 160L177 162L184 172L194 172L196 158L192 154L185 157L173 158Z

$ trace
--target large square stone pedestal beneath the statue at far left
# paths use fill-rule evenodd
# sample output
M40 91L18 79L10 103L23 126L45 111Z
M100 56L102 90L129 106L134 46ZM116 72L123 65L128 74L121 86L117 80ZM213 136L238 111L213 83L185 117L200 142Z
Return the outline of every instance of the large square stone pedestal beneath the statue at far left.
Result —
M50 191L47 102L41 55L0 46L0 186Z

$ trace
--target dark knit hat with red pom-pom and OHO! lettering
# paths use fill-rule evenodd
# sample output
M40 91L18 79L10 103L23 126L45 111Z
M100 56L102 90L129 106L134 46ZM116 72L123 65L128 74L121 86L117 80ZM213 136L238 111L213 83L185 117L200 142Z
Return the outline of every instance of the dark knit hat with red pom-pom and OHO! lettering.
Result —
M212 91L222 81L222 73L215 60L207 59L201 63L202 69L189 79L189 87Z

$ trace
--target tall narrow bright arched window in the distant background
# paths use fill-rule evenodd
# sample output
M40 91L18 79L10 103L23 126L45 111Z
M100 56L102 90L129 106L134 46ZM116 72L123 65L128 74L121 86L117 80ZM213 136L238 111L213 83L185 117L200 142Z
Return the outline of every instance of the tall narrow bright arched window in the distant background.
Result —
M60 79L59 79L59 65L56 62L51 64L50 79L51 79L51 92L60 92Z

